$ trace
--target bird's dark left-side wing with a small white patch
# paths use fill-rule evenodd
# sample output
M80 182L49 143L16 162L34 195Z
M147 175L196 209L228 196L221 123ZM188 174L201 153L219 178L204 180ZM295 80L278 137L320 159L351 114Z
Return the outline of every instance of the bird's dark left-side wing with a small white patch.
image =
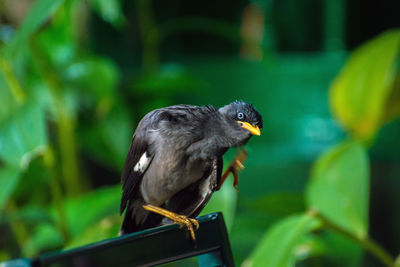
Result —
M146 136L138 133L138 128L132 138L131 146L122 170L122 198L120 213L122 214L130 199L132 199L136 186L140 183L146 169L151 163L153 155L148 151L149 143Z

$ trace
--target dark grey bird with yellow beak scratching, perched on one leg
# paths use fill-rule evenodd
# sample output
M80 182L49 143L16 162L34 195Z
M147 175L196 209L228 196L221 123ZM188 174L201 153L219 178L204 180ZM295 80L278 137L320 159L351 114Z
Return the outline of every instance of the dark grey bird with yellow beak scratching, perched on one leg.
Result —
M181 104L146 114L122 169L119 235L175 222L195 240L195 217L229 172L238 185L246 155L242 151L222 175L223 154L260 135L262 126L260 113L242 100L219 109Z

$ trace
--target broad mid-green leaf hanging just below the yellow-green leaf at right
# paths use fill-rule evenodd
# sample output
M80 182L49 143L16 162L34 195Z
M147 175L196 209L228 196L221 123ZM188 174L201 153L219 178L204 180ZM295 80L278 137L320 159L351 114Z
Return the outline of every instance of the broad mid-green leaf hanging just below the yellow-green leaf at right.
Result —
M365 237L368 231L369 165L358 142L345 142L315 163L307 188L310 209Z

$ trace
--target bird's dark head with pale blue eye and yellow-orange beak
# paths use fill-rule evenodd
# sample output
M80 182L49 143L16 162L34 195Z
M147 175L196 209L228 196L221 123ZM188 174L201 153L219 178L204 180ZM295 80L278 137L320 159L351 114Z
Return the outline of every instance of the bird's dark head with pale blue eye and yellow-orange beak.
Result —
M251 104L235 101L219 109L230 124L232 134L246 142L252 135L261 135L263 126L260 113Z

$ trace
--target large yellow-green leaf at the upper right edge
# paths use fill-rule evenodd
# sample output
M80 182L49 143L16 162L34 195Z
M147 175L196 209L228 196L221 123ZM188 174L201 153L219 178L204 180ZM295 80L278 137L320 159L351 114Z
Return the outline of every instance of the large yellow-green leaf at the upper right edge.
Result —
M400 30L387 31L355 50L331 85L333 113L357 138L373 137L385 121L392 90L399 90L399 51Z

